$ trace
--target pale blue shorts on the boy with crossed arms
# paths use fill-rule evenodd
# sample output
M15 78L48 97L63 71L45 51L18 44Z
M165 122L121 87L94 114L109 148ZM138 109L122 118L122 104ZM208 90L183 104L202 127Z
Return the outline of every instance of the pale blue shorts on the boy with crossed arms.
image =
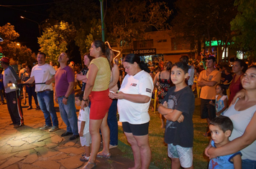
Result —
M193 165L193 148L183 148L180 145L168 144L168 157L178 158L183 168Z

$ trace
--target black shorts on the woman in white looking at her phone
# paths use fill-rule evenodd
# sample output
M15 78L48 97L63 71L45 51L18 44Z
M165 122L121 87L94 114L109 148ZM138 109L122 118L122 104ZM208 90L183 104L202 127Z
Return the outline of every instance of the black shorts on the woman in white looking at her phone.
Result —
M132 135L147 135L150 122L140 125L132 125L129 122L122 122L124 132L132 132Z

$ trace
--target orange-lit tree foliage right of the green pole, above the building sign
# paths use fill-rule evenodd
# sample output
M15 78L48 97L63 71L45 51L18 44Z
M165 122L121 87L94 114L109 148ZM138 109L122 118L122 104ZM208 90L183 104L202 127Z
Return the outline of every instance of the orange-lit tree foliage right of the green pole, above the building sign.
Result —
M172 11L165 2L112 0L106 14L106 34L120 50L134 40L142 40L145 30L168 28L166 21Z

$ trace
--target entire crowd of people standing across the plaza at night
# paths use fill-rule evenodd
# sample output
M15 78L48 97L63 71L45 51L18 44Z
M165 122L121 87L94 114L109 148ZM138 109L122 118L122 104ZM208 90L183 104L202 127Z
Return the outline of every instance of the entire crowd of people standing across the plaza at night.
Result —
M40 130L54 132L59 129L54 100L58 102L67 126L61 137L80 137L85 148L80 160L87 163L82 168L95 168L97 157L111 158L109 149L118 146L116 112L132 147L133 169L149 168L149 108L155 90L172 168L193 168L193 112L198 87L201 118L209 126L204 136L211 136L205 150L211 159L209 168L256 168L255 66L247 69L241 59L232 67L216 64L213 56L205 57L204 62L183 56L175 63L162 59L144 63L136 54L127 54L120 64L109 45L99 40L83 55L85 67L81 70L75 71L73 62L68 64L65 52L58 57L60 67L47 64L45 57L39 52L38 64L22 64L19 75L9 66L8 57L0 60L4 68L1 104L5 95L13 125L21 127L24 118L19 90L24 104L27 91L28 110L32 110L34 97L36 109L45 117ZM76 80L82 84L81 92L75 94ZM81 107L78 117L76 105ZM99 152L101 137L104 148Z

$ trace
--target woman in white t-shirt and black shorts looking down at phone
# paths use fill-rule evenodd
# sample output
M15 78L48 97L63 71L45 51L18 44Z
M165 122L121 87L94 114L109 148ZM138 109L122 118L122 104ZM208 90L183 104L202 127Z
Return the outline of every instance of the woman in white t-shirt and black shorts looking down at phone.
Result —
M154 87L152 77L147 65L134 54L124 57L124 69L127 75L119 92L110 92L109 97L118 99L119 121L132 145L134 168L149 168L151 150L148 141L148 109Z

